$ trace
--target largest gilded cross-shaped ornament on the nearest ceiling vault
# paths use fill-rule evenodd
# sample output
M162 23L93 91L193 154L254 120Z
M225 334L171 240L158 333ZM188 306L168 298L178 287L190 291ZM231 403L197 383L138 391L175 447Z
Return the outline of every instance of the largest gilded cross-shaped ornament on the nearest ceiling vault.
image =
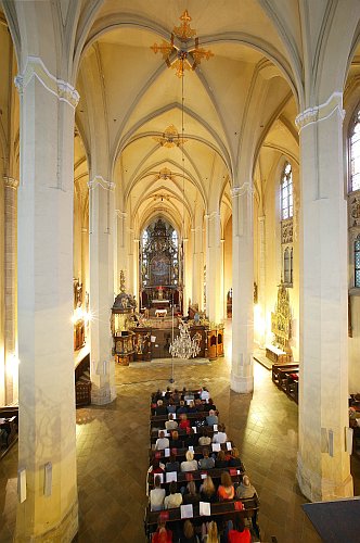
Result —
M155 54L162 53L166 65L176 70L178 77L183 77L185 70L195 70L203 59L208 61L214 53L198 47L196 30L190 26L191 16L188 10L179 18L181 25L173 27L170 42L163 39L162 43L154 43L151 49ZM173 43L175 37L180 41L180 47ZM188 45L190 40L193 40L192 45Z

